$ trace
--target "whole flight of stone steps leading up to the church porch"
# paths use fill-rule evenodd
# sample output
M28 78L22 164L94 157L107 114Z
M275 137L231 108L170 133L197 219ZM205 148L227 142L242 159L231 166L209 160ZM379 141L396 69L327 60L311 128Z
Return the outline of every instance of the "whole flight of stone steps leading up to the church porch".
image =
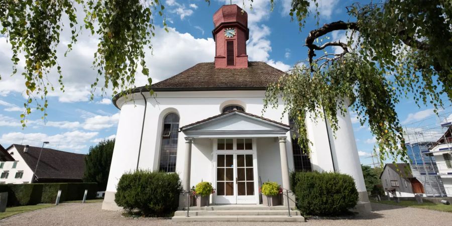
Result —
M298 210L290 210L287 206L265 206L256 204L210 205L190 207L187 217L186 207L174 213L172 221L255 221L255 222L304 222Z

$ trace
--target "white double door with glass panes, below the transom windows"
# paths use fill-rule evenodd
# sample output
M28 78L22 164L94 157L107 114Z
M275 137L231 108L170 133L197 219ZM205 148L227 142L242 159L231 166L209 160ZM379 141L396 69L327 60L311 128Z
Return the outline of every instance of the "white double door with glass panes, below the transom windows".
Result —
M216 154L216 204L256 204L257 168L254 153Z

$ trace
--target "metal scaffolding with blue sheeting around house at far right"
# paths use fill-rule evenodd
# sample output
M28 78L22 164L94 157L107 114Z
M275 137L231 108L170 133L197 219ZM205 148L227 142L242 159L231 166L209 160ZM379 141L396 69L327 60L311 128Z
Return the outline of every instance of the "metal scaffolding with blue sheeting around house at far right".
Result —
M444 186L441 179L443 175L448 177L452 174L448 173L452 169L446 166L445 161L438 163L432 152L437 146L445 146L446 151L442 148L441 153L452 155L451 126L451 106L438 110L437 115L403 126L407 154L411 160L410 168L413 176L424 186L426 196L444 197L452 194L449 182Z

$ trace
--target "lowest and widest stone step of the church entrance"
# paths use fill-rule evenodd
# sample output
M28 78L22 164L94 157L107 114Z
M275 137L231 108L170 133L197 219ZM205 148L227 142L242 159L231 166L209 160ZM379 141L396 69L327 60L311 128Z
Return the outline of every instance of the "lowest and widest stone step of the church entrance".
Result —
M280 216L280 215L224 215L224 216L173 216L174 222L188 221L254 221L254 222L304 222L303 216Z

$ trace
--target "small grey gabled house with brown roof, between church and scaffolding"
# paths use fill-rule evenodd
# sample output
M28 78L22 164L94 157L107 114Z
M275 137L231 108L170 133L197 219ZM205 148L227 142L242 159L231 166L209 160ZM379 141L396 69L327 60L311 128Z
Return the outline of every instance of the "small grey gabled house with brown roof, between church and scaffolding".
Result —
M414 197L415 194L424 196L425 190L405 163L386 164L380 174L383 189L390 197Z

